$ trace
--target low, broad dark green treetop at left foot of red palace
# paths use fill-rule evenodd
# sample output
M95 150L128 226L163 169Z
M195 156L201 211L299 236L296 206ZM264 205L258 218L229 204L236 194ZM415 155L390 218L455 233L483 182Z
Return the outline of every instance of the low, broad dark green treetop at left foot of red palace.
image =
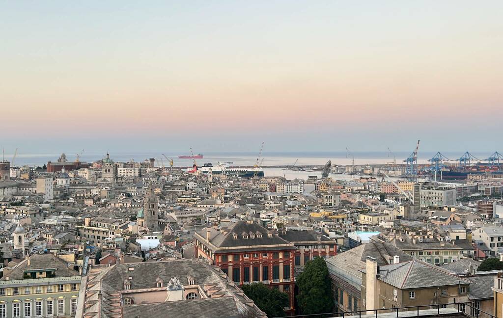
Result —
M286 315L283 308L290 304L286 293L276 288L269 288L263 283L243 285L241 289L268 317Z

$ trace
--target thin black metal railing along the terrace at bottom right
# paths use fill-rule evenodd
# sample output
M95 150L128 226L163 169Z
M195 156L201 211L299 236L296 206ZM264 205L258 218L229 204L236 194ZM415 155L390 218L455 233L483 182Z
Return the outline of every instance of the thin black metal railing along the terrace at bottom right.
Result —
M450 306L450 307L448 307ZM424 308L424 309L421 309ZM441 312L441 309L445 308L456 308L456 310L445 310L444 312ZM467 310L469 308L469 310ZM437 309L435 313L432 312L432 310ZM421 316L421 310L429 310L428 312L424 312L423 315L431 315L431 314L453 314L453 313L460 313L464 314L468 317L473 317L473 318L481 318L481 317L487 317L487 318L496 318L495 315L492 315L488 312L485 312L475 306L473 306L470 302L450 302L450 303L441 303L441 304L429 304L429 305L421 305L421 306L404 306L404 307L395 307L395 308L381 308L381 309L369 309L369 310L354 310L354 311L339 311L339 312L327 312L327 313L314 313L314 314L301 314L301 315L294 315L294 316L281 316L281 317L276 317L276 318L332 318L332 317L350 317L350 316L358 316L362 317L367 315L367 316L375 316L378 317L379 314L390 314L392 312L396 312L396 317L399 318L400 312L410 312L410 311L416 311L417 315L416 316ZM469 312L466 312L469 311ZM405 315L403 315L405 316Z

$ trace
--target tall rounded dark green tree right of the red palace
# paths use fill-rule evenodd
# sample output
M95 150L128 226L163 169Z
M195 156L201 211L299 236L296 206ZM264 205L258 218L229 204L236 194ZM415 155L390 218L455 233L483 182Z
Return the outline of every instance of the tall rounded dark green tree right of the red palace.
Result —
M333 293L325 260L316 257L307 262L297 277L297 305L302 314L332 312Z

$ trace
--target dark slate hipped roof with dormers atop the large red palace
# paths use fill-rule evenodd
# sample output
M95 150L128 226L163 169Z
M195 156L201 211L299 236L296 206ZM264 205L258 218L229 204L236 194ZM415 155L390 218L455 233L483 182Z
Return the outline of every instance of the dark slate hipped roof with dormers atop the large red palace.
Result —
M244 221L239 221L234 224L232 224L229 228L226 229L227 232L225 234L220 233L220 231L217 231L213 228L210 228L210 243L213 246L216 247L235 247L236 249L226 249L225 252L232 252L232 251L238 251L241 250L240 247L245 247L242 248L242 250L246 251L254 251L254 250L274 250L274 249L280 249L280 250L295 250L296 248L293 246L292 243L280 238L277 235L272 235L269 237L269 230L266 228L258 225L258 224L248 224ZM248 238L244 238L243 233L246 233L249 235L249 233L261 233L262 237L255 236L255 238L251 238L248 236ZM234 233L237 234L237 238L234 238ZM206 228L197 232L201 237L206 239ZM206 240L202 242L203 244L206 243ZM284 245L280 246L278 248L274 247L257 247L254 248L254 246L262 246L262 245ZM213 246L208 246L210 249L212 249L214 252L218 252L213 248Z

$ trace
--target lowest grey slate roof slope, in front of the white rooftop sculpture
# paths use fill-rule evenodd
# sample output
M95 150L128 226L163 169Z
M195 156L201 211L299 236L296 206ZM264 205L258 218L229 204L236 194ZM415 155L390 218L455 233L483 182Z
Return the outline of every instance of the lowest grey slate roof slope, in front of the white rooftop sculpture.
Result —
M124 306L124 318L237 318L239 311L232 297L165 301Z

